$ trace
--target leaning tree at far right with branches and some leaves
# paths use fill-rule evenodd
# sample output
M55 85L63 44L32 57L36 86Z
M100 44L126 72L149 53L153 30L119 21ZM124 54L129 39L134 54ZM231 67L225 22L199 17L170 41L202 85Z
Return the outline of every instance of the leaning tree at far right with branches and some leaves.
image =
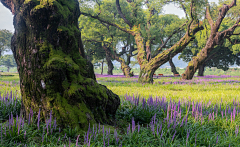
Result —
M235 17L234 15L232 15L227 22L224 22L224 18L227 15L227 12L232 7L236 6L236 2L236 0L232 0L229 5L222 4L222 6L219 8L219 13L216 17L215 22L214 17L212 17L210 13L210 5L208 4L206 6L206 19L208 21L208 24L210 25L211 33L208 36L204 48L197 54L197 56L193 57L192 61L189 62L186 71L182 74L182 79L192 79L194 73L200 67L200 65L204 64L210 54L213 53L212 51L214 50L214 47L222 45L225 40L228 40L231 44L240 43L240 31L237 30L237 27L240 26L239 16ZM226 23L229 23L229 25L227 26L231 27L225 28ZM238 38L236 38L236 36Z

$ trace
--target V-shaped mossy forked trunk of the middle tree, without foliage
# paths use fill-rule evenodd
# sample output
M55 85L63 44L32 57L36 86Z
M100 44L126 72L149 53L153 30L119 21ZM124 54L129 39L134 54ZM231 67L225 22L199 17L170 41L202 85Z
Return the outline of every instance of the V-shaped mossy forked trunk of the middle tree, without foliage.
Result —
M199 23L193 22L189 28L189 31L174 44L171 48L162 51L161 53L156 53L156 56L148 60L147 53L144 48L143 37L141 33L138 32L138 29L133 33L137 49L138 49L138 63L140 65L140 74L138 78L139 83L152 83L153 74L155 71L163 64L172 59L175 55L182 52L183 49L194 39L194 35L202 30L203 27ZM158 52L158 50L156 50Z

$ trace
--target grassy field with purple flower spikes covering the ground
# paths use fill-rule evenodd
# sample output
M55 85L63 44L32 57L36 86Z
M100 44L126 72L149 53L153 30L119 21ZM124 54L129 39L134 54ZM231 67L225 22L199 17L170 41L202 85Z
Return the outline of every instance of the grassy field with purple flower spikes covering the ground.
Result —
M0 146L240 146L239 76L154 77L154 84L139 84L137 76L96 77L121 98L115 125L76 132L34 113L22 120L18 76L1 76Z

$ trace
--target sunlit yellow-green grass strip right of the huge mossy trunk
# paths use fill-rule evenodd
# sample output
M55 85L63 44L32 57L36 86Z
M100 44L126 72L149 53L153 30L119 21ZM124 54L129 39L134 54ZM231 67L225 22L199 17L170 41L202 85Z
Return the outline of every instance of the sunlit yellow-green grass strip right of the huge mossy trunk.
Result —
M174 82L180 81L180 78L164 77L161 79L155 79L155 84L139 84L137 82L127 82L127 79L122 79L123 82L104 82L99 83L106 85L117 95L123 97L125 94L128 95L140 95L140 97L149 98L152 97L166 97L167 100L174 99L190 99L199 102L219 103L221 99L223 102L229 103L233 99L238 99L240 96L240 84L159 84L158 82ZM198 78L196 78L198 79ZM240 78L224 78L225 80L240 80ZM100 79L98 79L100 80ZM103 79L101 79L103 80ZM114 80L119 80L115 78ZM223 80L223 79L221 79ZM109 80L108 80L109 81ZM121 80L120 80L121 81ZM186 82L186 81L185 81Z

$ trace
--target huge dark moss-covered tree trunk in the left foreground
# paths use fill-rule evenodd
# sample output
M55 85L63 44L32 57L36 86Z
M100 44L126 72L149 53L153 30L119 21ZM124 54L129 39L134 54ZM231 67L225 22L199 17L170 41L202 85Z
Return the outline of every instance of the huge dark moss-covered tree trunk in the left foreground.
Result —
M119 97L96 82L84 58L77 0L1 0L14 14L12 51L22 95L21 114L50 111L61 127L86 130L111 123Z

